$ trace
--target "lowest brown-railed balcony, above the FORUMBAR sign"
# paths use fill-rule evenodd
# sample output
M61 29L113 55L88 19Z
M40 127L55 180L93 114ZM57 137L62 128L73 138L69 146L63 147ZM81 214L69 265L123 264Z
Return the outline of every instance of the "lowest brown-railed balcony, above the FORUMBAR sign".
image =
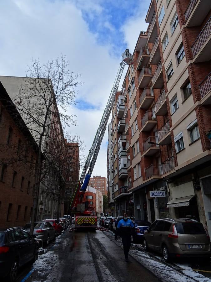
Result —
M168 159L163 164L152 164L145 169L146 179L152 176L160 176L174 169L174 159Z

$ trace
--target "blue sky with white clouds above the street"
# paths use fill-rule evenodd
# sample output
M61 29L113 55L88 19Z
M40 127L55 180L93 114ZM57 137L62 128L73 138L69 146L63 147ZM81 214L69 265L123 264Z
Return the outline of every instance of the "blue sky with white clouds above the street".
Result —
M0 75L25 76L32 58L41 63L66 55L69 70L83 82L77 88L77 134L87 156L110 95L121 54L133 54L150 0L1 0ZM121 89L127 67L124 69ZM109 122L111 117L109 119ZM107 177L108 131L93 175Z

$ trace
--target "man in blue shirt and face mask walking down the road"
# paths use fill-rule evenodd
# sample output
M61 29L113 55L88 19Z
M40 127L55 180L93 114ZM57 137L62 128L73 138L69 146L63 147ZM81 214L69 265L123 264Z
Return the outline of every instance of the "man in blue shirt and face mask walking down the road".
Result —
M127 214L124 213L123 219L121 219L118 222L115 240L116 241L118 240L117 238L118 235L122 237L123 250L124 250L124 256L126 262L128 262L128 252L130 250L131 235L133 232L135 232L135 226L133 222L130 219L128 219Z

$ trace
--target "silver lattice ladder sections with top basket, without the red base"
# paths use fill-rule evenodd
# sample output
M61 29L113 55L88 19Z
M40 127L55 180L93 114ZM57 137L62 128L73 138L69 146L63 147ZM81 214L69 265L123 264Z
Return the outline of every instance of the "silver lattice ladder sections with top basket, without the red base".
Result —
M93 168L94 168L95 162L96 162L97 157L98 157L98 153L99 153L99 150L100 150L100 145L101 145L102 140L103 140L103 136L104 136L105 131L106 131L106 126L107 126L108 119L109 119L109 116L110 116L110 113L111 113L111 110L112 110L113 102L115 100L115 95L116 95L116 92L118 90L119 81L120 81L122 74L123 74L124 67L125 67L125 65L130 65L133 62L133 57L129 53L128 49L125 50L125 52L122 54L122 57L123 57L123 60L119 65L119 69L118 69L118 72L117 72L117 75L116 75L110 96L108 98L107 105L106 105L105 110L103 112L103 117L101 119L100 125L99 125L97 133L95 135L92 147L89 150L89 154L88 154L86 163L84 165L84 168L83 168L80 180L79 180L79 183L81 185L84 183L86 175L91 176L91 174L93 172ZM87 183L87 185L88 185L88 183ZM86 190L86 187L84 187L83 191L85 191L85 190ZM77 188L76 188L76 191L77 191ZM74 193L74 196L76 194L76 191ZM73 196L73 200L74 200L74 196ZM70 206L72 206L73 200L72 200Z

